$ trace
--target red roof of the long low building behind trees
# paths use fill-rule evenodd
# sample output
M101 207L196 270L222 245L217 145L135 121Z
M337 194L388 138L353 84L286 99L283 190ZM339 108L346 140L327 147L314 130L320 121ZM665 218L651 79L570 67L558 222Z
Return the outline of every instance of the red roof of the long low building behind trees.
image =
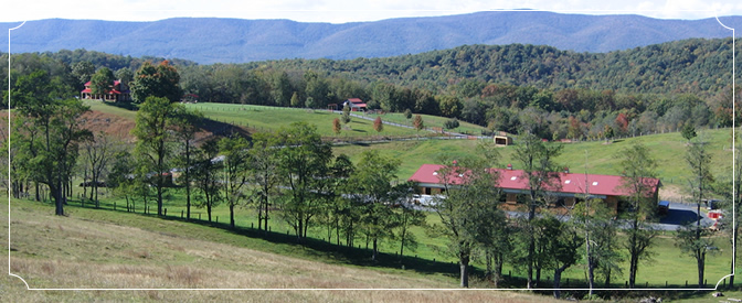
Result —
M410 181L418 183L439 184L438 171L444 165L438 164L423 164L411 177ZM497 187L505 190L528 190L528 181L523 177L521 170L505 170L491 169L500 174ZM605 196L627 196L630 192L621 186L623 176L618 175L597 175L597 174L575 174L575 173L559 173L561 183L561 193L584 194L585 180L590 185L587 188L591 195ZM451 177L452 184L460 184L462 178L458 175ZM655 188L659 184L659 180L649 178L649 184Z

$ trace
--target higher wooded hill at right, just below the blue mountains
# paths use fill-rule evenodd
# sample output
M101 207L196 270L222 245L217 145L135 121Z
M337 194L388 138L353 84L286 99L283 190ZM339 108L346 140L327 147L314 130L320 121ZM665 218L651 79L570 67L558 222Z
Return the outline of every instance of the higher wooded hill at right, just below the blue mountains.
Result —
M610 53L575 53L528 44L465 45L386 58L286 59L244 66L312 69L363 83L383 80L435 89L475 80L547 89L713 95L731 84L731 39L692 39Z

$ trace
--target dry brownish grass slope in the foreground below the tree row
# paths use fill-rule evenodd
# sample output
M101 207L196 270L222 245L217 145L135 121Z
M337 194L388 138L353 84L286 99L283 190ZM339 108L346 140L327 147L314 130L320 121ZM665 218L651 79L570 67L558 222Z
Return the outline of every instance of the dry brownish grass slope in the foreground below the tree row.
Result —
M49 212L51 213L51 212ZM3 215L7 217L7 213ZM427 279L288 258L135 227L13 208L10 271L36 289L277 289L29 291L7 277L2 302L533 302L548 297L451 289ZM8 223L0 232L7 235ZM3 244L0 267L8 266ZM294 290L325 289L325 290ZM370 290L327 290L370 289Z

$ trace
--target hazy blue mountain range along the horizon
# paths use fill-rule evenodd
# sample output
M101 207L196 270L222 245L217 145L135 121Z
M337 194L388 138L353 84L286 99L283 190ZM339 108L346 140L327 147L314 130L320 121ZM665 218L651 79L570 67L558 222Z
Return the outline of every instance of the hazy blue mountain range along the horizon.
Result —
M724 17L728 26L742 17ZM0 23L0 29L19 23ZM742 26L736 26L742 30ZM8 31L0 40L8 41ZM537 44L610 52L689 37L729 37L716 19L660 20L539 11L402 18L343 24L288 20L177 18L155 22L30 21L12 32L13 53L85 48L131 56L178 57L201 64L283 58L385 57L465 44Z

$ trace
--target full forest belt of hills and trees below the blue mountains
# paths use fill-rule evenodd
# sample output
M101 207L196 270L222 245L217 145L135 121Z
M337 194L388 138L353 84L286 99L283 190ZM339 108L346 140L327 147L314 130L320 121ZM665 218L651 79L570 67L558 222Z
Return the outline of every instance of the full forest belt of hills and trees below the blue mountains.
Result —
M445 116L508 132L529 126L543 138L579 139L604 137L608 128L619 136L731 126L731 39L691 39L610 53L464 45L385 58L170 64L183 93L199 101L305 107L311 98L314 107L327 108L358 97L371 109ZM13 69L38 66L82 88L86 75L67 74L83 62L136 71L147 61L163 58L60 51L15 55Z

